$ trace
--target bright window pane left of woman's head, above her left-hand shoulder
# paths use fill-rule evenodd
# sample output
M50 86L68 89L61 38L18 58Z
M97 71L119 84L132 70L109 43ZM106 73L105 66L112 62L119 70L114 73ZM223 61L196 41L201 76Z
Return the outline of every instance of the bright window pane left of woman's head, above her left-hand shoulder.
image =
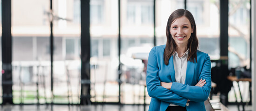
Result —
M184 0L156 0L156 44L166 44L166 24L176 9L184 9Z

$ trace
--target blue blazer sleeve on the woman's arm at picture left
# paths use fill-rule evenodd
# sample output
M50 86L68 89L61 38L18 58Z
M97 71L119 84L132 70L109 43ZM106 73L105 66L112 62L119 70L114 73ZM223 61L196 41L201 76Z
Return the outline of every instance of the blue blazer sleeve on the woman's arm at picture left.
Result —
M157 64L156 54L156 47L154 47L149 53L147 65L146 85L148 95L152 98L159 99L167 103L185 107L187 103L186 98L183 98L160 85L158 75L159 67Z

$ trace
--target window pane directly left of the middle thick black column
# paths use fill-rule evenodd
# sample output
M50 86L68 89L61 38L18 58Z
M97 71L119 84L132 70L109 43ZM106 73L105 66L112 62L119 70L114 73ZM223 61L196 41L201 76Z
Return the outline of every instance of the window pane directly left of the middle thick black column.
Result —
M53 103L78 104L81 92L80 0L53 0Z

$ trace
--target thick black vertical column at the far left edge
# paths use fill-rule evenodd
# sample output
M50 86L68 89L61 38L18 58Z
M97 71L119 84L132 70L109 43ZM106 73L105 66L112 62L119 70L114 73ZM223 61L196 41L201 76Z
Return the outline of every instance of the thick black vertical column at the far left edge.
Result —
M2 0L2 66L2 104L13 104L11 0Z

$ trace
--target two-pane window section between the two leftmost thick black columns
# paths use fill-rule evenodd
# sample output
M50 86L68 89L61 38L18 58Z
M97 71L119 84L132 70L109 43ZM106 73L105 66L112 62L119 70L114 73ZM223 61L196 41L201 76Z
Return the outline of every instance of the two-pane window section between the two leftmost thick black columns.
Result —
M49 1L12 0L14 104L51 103L51 14L53 103L80 102L80 0L54 0L53 4L51 13Z

